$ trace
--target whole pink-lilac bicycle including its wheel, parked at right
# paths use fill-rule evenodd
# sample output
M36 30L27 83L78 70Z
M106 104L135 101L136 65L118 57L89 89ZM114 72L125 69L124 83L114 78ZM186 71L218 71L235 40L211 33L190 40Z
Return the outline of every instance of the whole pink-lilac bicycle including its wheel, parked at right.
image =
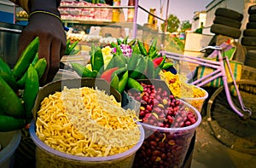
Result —
M248 154L256 154L256 81L241 79L235 80L227 56L223 56L224 49L218 46L207 46L218 52L218 61L197 58L188 55L178 55L163 51L166 58L177 64L189 62L192 64L211 67L214 71L202 78L196 78L190 84L203 87L216 78L222 78L223 85L218 87L205 101L207 123L212 134L224 145ZM232 82L227 80L227 72ZM235 90L232 94L230 90Z

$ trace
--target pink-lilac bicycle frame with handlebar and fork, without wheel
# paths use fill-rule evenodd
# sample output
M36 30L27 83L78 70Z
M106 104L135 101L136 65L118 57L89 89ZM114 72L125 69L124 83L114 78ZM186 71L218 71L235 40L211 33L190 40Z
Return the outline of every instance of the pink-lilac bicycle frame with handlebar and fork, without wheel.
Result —
M209 47L211 47L211 46L209 46ZM204 48L204 49L207 49L207 48ZM206 59L203 59L203 58L197 58L197 57L193 57L193 56L189 56L189 55L179 55L179 54L176 54L176 53L166 52L166 51L161 51L161 54L166 55L166 58L170 58L170 59L173 59L173 60L187 61L187 62L190 62L190 63L195 63L197 65L201 65L201 66L205 66L205 67L211 67L211 68L215 69L215 71L210 72L205 77L196 79L191 84L195 84L195 85L201 87L201 86L211 82L212 80L214 80L216 78L219 78L219 77L222 78L223 83L224 83L225 94L226 94L227 101L229 102L230 107L241 118L245 118L246 116L236 108L236 106L234 105L234 103L231 99L230 89L229 89L228 80L227 80L227 76L226 76L226 71L225 71L225 67L224 67L224 61L226 61L226 64L227 64L229 72L230 72L230 76L232 77L232 82L235 85L236 94L237 94L238 100L240 102L241 109L242 109L243 112L249 113L249 116L250 116L252 114L252 112L249 109L247 109L245 107L244 103L242 102L241 94L240 94L240 91L238 90L238 87L236 85L236 79L234 78L233 72L231 70L229 59L226 56L222 55L222 51L223 51L222 48L214 47L214 49L218 50L218 55L217 55L218 56L218 61L206 60Z

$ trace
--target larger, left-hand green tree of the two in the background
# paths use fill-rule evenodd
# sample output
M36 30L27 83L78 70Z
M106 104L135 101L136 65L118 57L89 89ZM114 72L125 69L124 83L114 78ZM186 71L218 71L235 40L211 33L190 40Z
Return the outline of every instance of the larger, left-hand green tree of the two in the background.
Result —
M167 19L167 28L166 32L177 32L177 28L180 24L180 21L177 19L176 15L170 14ZM166 27L166 22L161 24L161 29L164 32Z

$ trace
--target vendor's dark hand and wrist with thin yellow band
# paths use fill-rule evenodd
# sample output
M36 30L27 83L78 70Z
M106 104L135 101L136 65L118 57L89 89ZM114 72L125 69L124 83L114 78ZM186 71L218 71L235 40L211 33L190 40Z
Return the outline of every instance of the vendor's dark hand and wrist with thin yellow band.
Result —
M41 0L32 2L38 2L38 6L42 9L44 8L42 5L45 5L47 1L49 3L54 2L54 0L43 1L43 4ZM37 4L32 5L33 9L37 9ZM53 9L56 9L56 7ZM51 10L51 7L46 10ZM54 12L58 11L55 10ZM65 54L67 37L61 20L57 17L51 14L34 13L31 15L28 25L20 34L19 55L36 37L39 37L38 57L44 57L47 60L47 68L44 76L40 79L40 85L44 85L51 82L59 70L61 57Z

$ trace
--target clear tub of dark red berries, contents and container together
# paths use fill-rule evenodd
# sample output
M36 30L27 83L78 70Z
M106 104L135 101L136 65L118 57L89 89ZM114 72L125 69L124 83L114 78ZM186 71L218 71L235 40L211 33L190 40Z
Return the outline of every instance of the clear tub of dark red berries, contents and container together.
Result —
M176 99L162 80L140 80L143 93L128 90L141 103L139 119L145 131L133 167L181 167L201 113Z

